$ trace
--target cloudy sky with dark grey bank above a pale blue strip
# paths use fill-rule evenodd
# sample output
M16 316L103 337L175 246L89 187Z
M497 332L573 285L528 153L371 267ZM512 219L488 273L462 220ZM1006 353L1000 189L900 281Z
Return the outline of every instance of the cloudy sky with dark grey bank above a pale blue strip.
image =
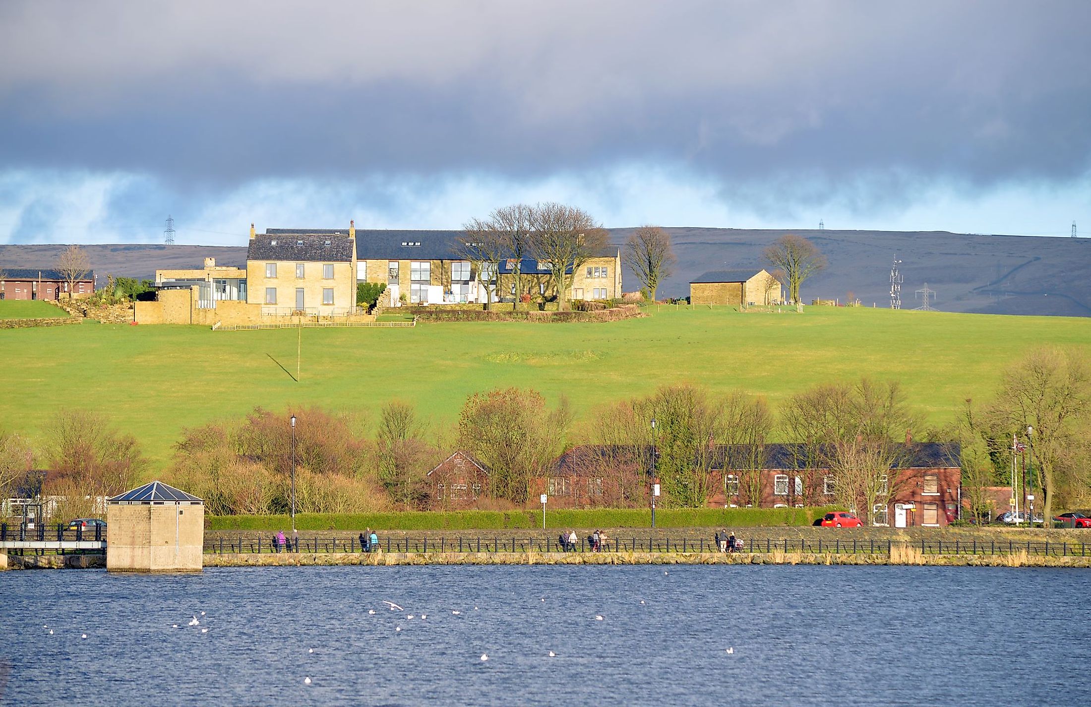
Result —
M0 243L460 228L1091 237L1087 0L0 3Z

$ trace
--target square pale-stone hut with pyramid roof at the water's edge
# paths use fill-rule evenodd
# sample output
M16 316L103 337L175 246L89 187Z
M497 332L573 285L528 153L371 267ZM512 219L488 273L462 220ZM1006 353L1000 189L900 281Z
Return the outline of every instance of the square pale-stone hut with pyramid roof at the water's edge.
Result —
M201 572L204 501L161 481L106 502L106 568Z

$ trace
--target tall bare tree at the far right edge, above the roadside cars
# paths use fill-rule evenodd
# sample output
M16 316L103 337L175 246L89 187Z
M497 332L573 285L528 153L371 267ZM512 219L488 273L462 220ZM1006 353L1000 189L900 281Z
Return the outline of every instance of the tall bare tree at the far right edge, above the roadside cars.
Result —
M1091 362L1081 349L1042 347L1004 372L996 411L1008 431L1030 438L1032 462L1053 516L1054 500L1065 492L1066 460L1077 447L1079 426L1091 411Z

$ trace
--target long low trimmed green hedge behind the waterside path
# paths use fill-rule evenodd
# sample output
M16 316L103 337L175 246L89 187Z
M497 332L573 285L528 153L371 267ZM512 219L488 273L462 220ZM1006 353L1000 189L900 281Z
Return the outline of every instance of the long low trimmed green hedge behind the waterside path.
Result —
M661 528L807 526L827 513L813 508L663 508L656 511ZM209 530L281 530L286 515L208 516ZM558 510L546 512L550 528L647 528L651 512L638 508ZM542 527L541 511L408 511L403 513L326 514L296 516L300 530L517 530Z

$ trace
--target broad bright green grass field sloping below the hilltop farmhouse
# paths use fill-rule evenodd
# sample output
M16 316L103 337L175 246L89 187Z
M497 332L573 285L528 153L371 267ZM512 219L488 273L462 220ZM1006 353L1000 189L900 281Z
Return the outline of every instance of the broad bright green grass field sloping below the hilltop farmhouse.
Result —
M44 304L44 303L43 303ZM690 382L776 403L819 382L896 379L931 422L987 397L1000 370L1039 343L1091 344L1091 321L875 309L805 314L656 308L600 324L422 323L413 328L212 332L201 326L0 331L0 428L43 439L60 409L101 410L161 468L182 428L254 406L364 408L408 400L453 422L494 386L567 395L577 419L602 405ZM283 367L283 368L281 368Z

